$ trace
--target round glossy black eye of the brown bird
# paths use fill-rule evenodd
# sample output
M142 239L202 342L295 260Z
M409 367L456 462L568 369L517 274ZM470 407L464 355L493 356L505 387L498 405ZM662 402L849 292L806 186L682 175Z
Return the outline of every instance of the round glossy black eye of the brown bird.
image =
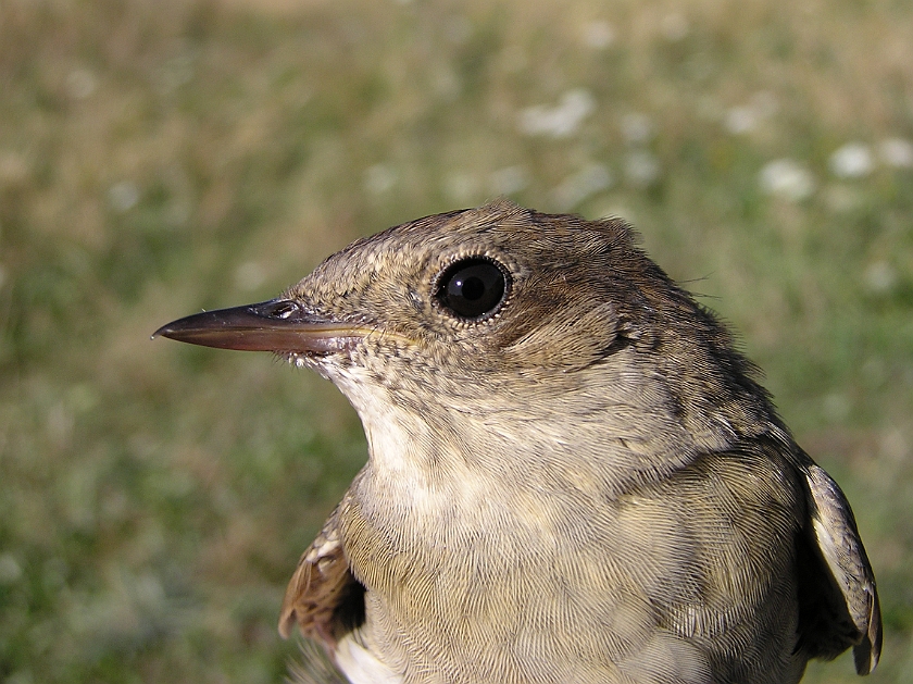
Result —
M508 289L508 275L487 259L465 259L451 265L438 282L441 304L463 319L493 313Z

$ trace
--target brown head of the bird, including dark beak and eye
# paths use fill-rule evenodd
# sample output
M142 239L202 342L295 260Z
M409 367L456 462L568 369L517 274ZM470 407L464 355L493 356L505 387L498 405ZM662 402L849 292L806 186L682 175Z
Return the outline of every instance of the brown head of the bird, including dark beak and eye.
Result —
M609 431L662 452L635 455L635 470L673 468L775 419L725 328L635 237L621 220L498 201L360 239L278 299L155 335L312 368L347 395L370 439L397 415L416 419L411 439L429 426L463 451L480 428L529 439L530 451L543 448L536 438L601 444Z

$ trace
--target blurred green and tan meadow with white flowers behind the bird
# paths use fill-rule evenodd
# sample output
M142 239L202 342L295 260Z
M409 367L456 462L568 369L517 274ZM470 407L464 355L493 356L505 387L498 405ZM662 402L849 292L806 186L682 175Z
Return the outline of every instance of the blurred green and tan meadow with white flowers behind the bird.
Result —
M738 331L855 509L868 681L913 681L901 0L0 0L0 681L282 681L358 419L149 335L497 196L627 217Z

